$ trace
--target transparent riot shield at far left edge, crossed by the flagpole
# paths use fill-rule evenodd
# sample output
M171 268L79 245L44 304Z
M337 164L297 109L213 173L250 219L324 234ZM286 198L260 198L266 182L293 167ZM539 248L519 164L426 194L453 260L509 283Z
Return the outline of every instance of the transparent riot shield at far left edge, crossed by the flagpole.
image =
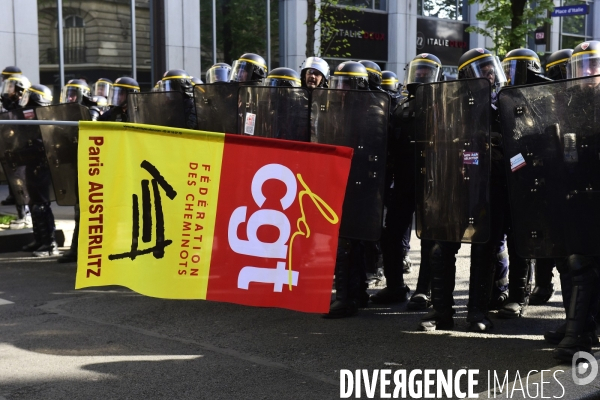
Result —
M13 110L1 120L34 119L33 110ZM33 205L55 200L50 169L37 125L0 125L0 162L15 201Z

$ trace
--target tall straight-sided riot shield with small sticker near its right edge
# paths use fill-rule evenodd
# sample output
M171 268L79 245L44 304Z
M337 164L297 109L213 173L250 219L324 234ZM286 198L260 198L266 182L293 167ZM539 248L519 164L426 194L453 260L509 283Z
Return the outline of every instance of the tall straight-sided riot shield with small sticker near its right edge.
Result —
M490 94L483 78L417 88L416 233L421 239L489 240Z

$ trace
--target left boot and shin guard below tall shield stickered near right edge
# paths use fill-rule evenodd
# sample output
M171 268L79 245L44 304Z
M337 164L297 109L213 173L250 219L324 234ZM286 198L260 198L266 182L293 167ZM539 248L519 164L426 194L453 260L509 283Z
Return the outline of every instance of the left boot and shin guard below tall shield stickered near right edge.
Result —
M431 303L433 309L421 318L417 327L420 331L449 330L454 328L454 291L455 263L453 249L447 245L435 243L429 252L431 267Z

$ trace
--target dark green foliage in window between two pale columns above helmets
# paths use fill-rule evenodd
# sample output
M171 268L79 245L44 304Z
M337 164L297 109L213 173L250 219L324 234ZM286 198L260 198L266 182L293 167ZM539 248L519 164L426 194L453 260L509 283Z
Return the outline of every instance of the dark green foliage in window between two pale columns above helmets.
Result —
M271 4L271 68L279 61L279 1ZM244 53L267 59L265 0L217 0L217 62L233 63ZM202 71L212 65L212 0L200 1Z

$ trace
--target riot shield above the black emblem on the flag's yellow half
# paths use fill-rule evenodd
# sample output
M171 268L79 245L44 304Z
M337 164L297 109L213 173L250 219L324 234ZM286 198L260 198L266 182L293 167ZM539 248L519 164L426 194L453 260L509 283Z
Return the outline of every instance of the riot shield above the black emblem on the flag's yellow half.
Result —
M127 95L129 121L137 124L186 128L184 96L185 94L181 92L129 93Z

